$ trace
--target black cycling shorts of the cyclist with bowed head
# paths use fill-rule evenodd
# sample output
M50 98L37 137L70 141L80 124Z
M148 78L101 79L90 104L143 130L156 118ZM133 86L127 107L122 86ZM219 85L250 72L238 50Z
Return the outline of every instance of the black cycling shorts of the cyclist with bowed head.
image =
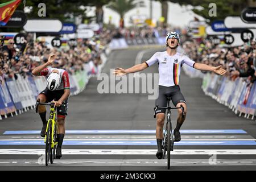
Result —
M51 91L48 88L44 89L40 94L44 94L46 96L46 103L51 102L53 100L59 101L59 99L63 96L64 90L54 90ZM61 118L65 118L68 115L68 99L63 102L65 106L57 107L57 116Z

